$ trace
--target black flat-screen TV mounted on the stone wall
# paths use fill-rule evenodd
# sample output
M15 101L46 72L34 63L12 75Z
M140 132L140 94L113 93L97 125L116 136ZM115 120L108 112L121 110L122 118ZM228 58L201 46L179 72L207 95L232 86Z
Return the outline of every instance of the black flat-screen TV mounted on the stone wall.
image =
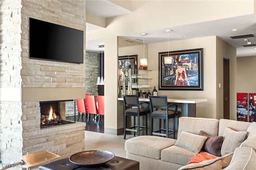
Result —
M30 18L29 57L83 63L84 32Z

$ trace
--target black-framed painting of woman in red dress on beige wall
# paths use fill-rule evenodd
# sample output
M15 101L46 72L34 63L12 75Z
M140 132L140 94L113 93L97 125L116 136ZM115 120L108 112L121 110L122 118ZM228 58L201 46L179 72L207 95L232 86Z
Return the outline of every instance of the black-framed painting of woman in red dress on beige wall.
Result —
M159 90L204 90L203 48L159 52L158 59Z

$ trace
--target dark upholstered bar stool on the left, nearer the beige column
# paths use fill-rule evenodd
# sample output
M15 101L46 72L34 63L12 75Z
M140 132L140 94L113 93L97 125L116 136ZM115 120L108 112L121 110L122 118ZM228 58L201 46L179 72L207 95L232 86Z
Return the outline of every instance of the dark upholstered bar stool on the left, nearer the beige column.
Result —
M123 95L124 99L124 139L126 137L126 131L132 131L138 133L138 136L140 136L140 131L146 130L146 135L148 134L148 107L149 103L148 102L142 102L139 103L139 97L138 95ZM143 103L147 104L146 108L140 108L140 105ZM136 108L133 108L136 107ZM127 116L133 116L133 127L127 128ZM145 116L145 126L140 125L140 117ZM135 125L135 118L137 117L137 125ZM137 129L136 129L137 128Z

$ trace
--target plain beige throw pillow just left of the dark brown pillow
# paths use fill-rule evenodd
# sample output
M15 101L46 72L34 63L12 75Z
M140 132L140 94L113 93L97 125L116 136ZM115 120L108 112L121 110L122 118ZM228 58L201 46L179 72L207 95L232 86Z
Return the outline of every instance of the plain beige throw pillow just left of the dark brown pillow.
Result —
M190 150L191 152L199 153L206 139L206 136L200 136L182 131L174 146Z

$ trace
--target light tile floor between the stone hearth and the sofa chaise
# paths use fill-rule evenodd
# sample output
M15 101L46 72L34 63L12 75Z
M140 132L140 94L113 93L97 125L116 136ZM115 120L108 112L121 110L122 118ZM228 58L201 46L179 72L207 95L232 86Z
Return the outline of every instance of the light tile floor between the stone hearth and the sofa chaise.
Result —
M115 156L126 158L126 151L124 150L124 142L127 139L133 138L131 134L112 135L98 132L84 131L85 133L85 150L108 150L113 152ZM10 168L12 169L12 168ZM32 168L31 170L38 170Z

